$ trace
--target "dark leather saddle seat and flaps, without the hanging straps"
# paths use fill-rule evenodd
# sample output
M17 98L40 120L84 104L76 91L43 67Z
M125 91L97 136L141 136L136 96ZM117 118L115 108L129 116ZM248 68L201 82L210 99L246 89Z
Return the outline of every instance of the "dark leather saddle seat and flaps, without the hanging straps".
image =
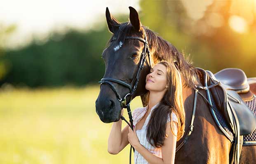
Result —
M210 71L206 72L209 77L209 85L221 82L221 85L209 90L230 128L234 128L232 114L230 114L231 108L233 108L239 121L240 135L252 133L256 128L256 117L244 100L253 99L254 94L249 90L250 86L244 71L238 68L225 68L215 74Z

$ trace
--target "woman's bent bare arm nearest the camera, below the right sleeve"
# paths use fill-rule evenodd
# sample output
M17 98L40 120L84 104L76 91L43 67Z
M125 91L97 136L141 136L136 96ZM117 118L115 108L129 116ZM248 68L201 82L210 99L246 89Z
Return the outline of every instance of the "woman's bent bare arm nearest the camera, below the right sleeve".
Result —
M171 121L174 123L173 121ZM162 158L157 157L149 150L144 148L141 144L138 146L134 145L134 148L148 161L150 164L174 164L175 150L176 150L176 140L177 137L171 132L170 122L167 123L166 133L168 135L164 140L164 146L161 147Z

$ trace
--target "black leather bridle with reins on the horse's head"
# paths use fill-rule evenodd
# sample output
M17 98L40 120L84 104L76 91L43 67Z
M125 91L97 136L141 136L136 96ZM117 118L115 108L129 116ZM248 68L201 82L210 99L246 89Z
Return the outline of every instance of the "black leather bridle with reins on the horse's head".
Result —
M139 61L139 66L138 66L138 69L135 73L135 76L133 77L132 79L132 82L131 84L128 84L127 82L124 82L122 80L119 80L119 79L113 79L113 78L102 78L101 81L99 81L98 83L101 83L101 84L108 84L110 86L110 88L114 91L115 95L117 96L117 99L118 101L120 102L120 105L121 105L121 109L122 108L127 108L127 112L128 112L128 115L129 115L129 121L131 124L128 123L128 121L123 117L121 116L121 119L124 120L133 130L133 120L132 120L132 112L131 112L131 109L130 109L130 103L132 101L132 97L134 96L134 93L138 87L138 83L139 83L139 77L140 77L140 74L141 74L141 70L143 69L143 66L144 66L144 62L146 61L146 57L147 57L147 54L148 54L148 60L149 60L149 66L151 68L151 63L150 63L150 51L149 51L149 48L148 48L148 41L147 41L147 36L146 34L144 34L145 37L144 39L140 38L140 37L132 37L132 36L127 36L125 37L125 39L135 39L135 40L139 40L141 42L144 43L144 47L143 47L143 50L141 52L141 57L140 57L140 61ZM113 39L111 41L115 41L115 37L113 37ZM129 93L127 93L124 98L121 98L119 92L117 91L117 89L115 88L115 86L113 85L112 82L115 82L117 84L120 84L124 87L127 87L129 89ZM132 84L134 83L134 85L132 86ZM101 85L100 85L101 87ZM127 96L129 96L129 101L127 101ZM133 151L134 151L134 147L132 147L131 145L131 148L130 148L130 164L131 164L131 157L132 157L132 148L133 148Z

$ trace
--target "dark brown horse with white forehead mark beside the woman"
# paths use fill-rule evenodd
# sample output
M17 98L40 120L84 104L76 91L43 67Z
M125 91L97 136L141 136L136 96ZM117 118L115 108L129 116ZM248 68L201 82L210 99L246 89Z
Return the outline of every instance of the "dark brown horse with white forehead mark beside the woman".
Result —
M147 36L148 46L150 50L151 65L154 66L161 60L167 60L172 64L176 64L182 75L183 82L183 100L186 112L186 128L188 131L193 112L193 101L195 90L194 84L203 86L201 83L200 72L188 62L183 54L168 41L165 41L155 32L141 25L137 11L129 7L130 21L119 23L106 9L106 19L108 28L113 36L108 42L108 47L103 51L102 57L105 62L104 78L119 79L127 83L131 83L138 69L139 59L144 44L136 39L125 40L125 37ZM111 40L115 38L115 41ZM139 84L134 97L141 96L143 98L146 93L146 75L150 71L148 57L139 77ZM121 97L129 93L129 89L120 84L113 82L115 89L118 90ZM206 93L201 91L206 97ZM144 105L144 103L143 103ZM121 106L120 102L109 85L102 84L99 96L96 100L96 113L104 123L116 122L120 119ZM181 144L183 139L177 142L177 146ZM209 105L201 97L197 98L194 130L180 150L176 152L175 162L178 164L228 164L231 142L223 132L218 129L213 117L211 116ZM241 163L252 163L256 159L256 146L247 146L242 150ZM250 161L251 160L251 161Z

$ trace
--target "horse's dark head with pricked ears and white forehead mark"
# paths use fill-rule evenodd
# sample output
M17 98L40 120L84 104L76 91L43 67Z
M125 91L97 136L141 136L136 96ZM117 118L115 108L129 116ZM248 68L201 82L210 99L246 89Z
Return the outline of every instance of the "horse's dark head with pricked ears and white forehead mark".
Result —
M145 65L143 69L139 68L141 60L143 60L142 55L146 54L148 48L143 41L146 39L146 32L141 25L137 11L132 7L129 9L130 21L119 23L106 8L107 24L113 36L110 38L109 46L102 53L105 74L101 80L100 93L96 100L96 113L104 123L116 122L120 119L121 102L127 93L134 89L136 76L139 80L137 89L134 90L131 97L128 95L127 98L132 100L135 96L143 95L146 92L146 74L150 71L149 55L145 55L146 62L143 63ZM138 76L139 69L141 73Z

